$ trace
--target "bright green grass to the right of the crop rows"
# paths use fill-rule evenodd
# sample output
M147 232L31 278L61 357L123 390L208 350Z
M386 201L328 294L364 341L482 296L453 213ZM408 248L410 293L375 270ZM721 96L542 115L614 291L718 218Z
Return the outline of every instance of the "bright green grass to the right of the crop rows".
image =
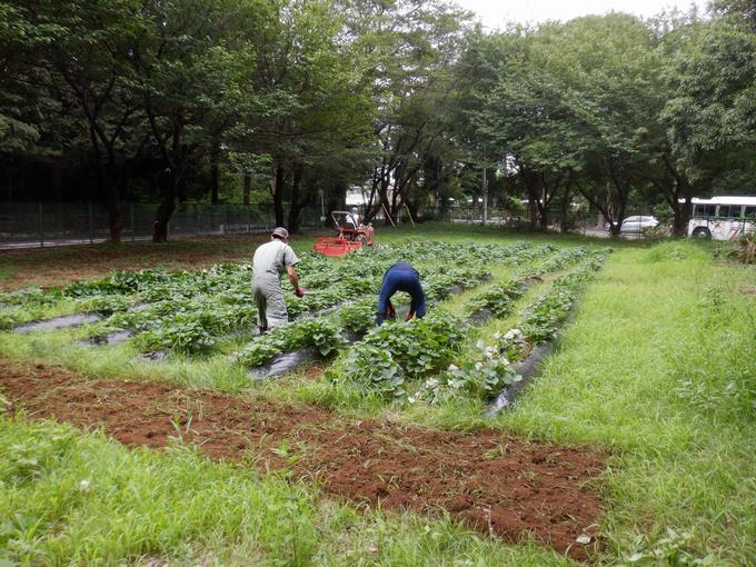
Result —
M614 255L544 375L499 418L616 455L613 560L756 564L756 305L742 292L755 276L690 242Z

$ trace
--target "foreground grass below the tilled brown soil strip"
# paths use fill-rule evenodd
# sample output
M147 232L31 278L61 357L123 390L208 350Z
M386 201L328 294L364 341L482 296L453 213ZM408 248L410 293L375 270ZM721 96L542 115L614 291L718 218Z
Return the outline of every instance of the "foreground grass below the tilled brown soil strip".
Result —
M0 565L567 565L448 518L358 514L286 471L0 417Z

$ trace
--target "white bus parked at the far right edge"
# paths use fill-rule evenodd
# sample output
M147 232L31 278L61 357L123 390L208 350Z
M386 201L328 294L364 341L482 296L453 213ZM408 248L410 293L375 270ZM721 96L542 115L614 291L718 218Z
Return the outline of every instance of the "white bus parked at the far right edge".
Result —
M756 197L693 198L688 236L732 240L756 231Z

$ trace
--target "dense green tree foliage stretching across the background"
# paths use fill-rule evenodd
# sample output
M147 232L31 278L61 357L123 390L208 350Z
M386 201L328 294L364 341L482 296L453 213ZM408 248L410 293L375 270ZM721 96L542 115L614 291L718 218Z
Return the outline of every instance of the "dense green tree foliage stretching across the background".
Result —
M371 220L527 199L615 232L634 209L753 192L747 2L484 33L441 0L0 2L0 176L9 199L272 206L297 230L361 187Z

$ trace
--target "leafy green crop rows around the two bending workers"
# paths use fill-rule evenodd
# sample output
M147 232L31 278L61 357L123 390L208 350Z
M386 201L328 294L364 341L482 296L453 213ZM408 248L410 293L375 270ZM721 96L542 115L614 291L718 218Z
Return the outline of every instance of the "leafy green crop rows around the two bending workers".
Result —
M299 272L307 294L298 299L286 291L291 321L263 336L256 336L249 265L216 266L195 273L157 269L115 272L60 290L8 294L0 304L4 305L6 328L16 326L17 334L30 334L37 344L54 344L50 347L53 354L76 351L83 360L94 360L102 352L103 358L115 354L126 368L133 368L139 359L169 365L179 360L190 367L209 364L222 367L241 388L249 381L248 371L263 378L339 354L328 376L345 388L437 402L441 396L436 386L440 385L449 386L449 392L485 399L517 379L509 364L517 357L514 351L505 354L511 350L509 345L491 346L498 350L497 359L487 358L481 375L478 369L484 361L471 359L479 350L486 352L479 341L470 344L476 328L513 311L527 288L548 287L543 285L544 279L569 270L583 275L571 278L568 287L574 295L600 266L604 253L530 242L481 246L425 241L376 247L340 261L306 255ZM422 273L430 315L424 320L372 329L375 297L384 271L397 260L412 258ZM493 278L491 269L500 277ZM450 296L476 288L481 291L471 297L462 312L445 309ZM78 315L29 322L40 307L61 314L68 308ZM70 321L81 325L73 331L46 332ZM520 357L528 354L527 344L549 335L535 327L529 332L521 339ZM93 346L83 348L88 342ZM126 348L113 347L121 342ZM17 339L17 344L24 341ZM127 359L128 352L132 352L132 360ZM465 370L469 365L475 371ZM350 370L344 372L344 368ZM480 376L485 376L483 382ZM405 386L419 379L428 381L424 387ZM429 389L436 391L429 394Z

